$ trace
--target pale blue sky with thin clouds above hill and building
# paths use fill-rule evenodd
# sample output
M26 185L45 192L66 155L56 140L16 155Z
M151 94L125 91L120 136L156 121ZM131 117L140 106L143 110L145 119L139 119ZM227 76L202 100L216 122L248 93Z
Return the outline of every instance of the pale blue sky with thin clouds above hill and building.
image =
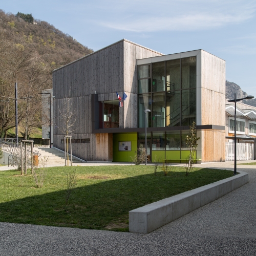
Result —
M0 9L32 13L95 51L122 38L164 54L203 49L256 97L256 0L12 0Z

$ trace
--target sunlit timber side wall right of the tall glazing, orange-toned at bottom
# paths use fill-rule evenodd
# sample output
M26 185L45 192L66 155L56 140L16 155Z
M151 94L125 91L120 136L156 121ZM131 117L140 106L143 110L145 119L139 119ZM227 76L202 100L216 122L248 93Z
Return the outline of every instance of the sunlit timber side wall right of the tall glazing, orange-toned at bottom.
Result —
M201 124L225 126L225 60L201 51ZM203 130L202 162L225 161L225 131Z

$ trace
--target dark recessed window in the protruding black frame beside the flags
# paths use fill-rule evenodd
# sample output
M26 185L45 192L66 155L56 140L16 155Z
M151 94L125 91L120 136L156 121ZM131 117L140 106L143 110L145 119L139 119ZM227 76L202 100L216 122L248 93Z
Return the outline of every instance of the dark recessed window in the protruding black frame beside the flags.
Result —
M103 103L104 128L119 127L119 100L109 100Z

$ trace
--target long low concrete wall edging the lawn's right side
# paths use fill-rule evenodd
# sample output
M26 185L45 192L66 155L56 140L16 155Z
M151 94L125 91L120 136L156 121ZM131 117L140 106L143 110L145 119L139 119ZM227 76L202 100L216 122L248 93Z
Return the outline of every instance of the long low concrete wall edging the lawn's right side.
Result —
M129 211L129 231L149 233L248 183L245 172Z

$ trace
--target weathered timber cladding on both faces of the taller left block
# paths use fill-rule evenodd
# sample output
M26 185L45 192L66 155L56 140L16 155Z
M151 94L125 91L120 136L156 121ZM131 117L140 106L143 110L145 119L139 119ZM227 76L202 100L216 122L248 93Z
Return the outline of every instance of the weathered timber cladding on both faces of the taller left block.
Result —
M95 91L99 101L117 99L116 92L125 92L124 107L119 109L119 127L137 127L137 70L136 59L162 54L136 45L128 40L85 56L53 72L54 146L63 150L64 134L59 109L66 98L71 98L76 123L72 139L90 138L90 143L72 144L72 153L84 160L111 161L112 134L92 134L91 94ZM120 95L122 96L122 95Z

